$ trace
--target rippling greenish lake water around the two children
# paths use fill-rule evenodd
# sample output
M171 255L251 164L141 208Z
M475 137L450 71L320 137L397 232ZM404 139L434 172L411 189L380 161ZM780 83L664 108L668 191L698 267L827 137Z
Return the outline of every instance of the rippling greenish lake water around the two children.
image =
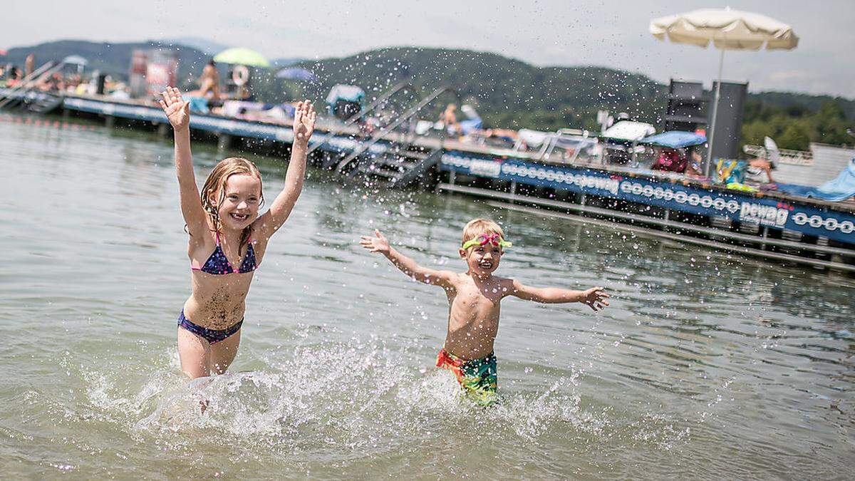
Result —
M4 478L852 475L852 277L312 170L257 270L230 373L188 384L171 139L0 120ZM194 150L201 182L223 155ZM273 199L283 163L247 157ZM433 367L442 291L357 242L377 227L463 270L474 217L514 243L500 275L614 294L597 314L505 300L502 401L487 409Z

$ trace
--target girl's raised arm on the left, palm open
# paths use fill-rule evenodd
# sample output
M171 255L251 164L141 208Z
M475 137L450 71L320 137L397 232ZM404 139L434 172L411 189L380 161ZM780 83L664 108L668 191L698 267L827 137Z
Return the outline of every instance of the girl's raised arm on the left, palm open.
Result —
M191 235L208 229L196 175L193 174L193 156L190 151L190 104L181 98L175 87L167 87L160 100L163 112L175 133L175 170L181 198L181 214Z

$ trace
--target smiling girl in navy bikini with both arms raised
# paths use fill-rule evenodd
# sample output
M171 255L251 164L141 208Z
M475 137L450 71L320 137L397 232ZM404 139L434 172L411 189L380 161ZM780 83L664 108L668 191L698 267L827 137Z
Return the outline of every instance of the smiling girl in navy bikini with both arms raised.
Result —
M315 107L308 100L297 105L285 186L259 217L262 176L245 158L217 163L199 193L190 151L189 104L174 87L162 97L161 107L174 129L180 206L190 235L192 294L178 318L181 370L192 378L221 374L237 353L253 271L303 188Z

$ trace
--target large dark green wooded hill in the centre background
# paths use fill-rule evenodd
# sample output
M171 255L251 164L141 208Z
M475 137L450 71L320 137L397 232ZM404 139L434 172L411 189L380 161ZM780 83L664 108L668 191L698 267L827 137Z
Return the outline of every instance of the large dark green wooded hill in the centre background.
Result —
M301 66L318 75L321 90L339 82L367 91L403 80L425 92L449 85L494 127L593 128L599 109L648 119L663 110L663 86L644 75L600 67L538 68L472 50L386 48Z

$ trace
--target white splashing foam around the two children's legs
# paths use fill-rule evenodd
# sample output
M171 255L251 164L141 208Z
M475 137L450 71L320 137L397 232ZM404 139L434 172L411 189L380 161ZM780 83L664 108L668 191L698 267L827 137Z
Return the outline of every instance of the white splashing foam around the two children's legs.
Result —
M633 423L612 407L587 405L581 371L543 390L500 387L498 404L485 408L462 395L450 371L420 367L426 359L418 347L353 338L263 355L254 359L260 369L191 382L180 373L172 347L157 356L166 362L137 376L109 365L81 371L96 413L138 442L172 449L225 443L343 460L444 436L525 443L616 437L664 449L688 438L687 429L662 413Z

